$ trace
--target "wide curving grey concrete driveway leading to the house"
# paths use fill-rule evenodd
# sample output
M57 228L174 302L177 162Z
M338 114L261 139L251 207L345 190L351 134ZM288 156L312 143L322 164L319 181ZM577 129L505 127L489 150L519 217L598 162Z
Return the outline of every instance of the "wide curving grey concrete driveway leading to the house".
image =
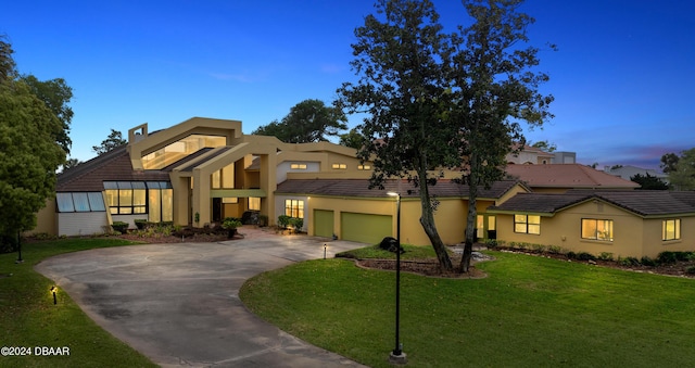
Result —
M251 314L250 277L365 244L241 228L243 240L99 249L46 259L53 279L97 323L164 367L357 367ZM281 305L278 305L281 308Z

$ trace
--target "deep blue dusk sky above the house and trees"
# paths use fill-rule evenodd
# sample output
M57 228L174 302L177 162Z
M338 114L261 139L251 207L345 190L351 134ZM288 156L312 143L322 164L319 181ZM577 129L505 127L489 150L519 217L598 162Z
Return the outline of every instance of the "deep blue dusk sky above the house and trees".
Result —
M448 30L456 0L434 0ZM0 34L21 73L73 88L72 156L94 156L111 128L166 128L192 116L240 119L250 134L305 99L330 103L371 0L12 1ZM695 147L695 2L527 0L555 118L526 131L578 162L658 168ZM559 51L544 46L556 43ZM358 117L351 118L351 127Z

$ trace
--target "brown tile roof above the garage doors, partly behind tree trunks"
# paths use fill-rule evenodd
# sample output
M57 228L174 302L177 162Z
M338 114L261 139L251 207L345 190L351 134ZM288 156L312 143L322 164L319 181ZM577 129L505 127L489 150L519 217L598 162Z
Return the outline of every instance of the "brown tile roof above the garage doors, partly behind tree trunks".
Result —
M480 188L479 198L498 199L508 192L517 181L503 180L490 189ZM407 180L387 180L384 189L369 189L368 179L289 179L278 185L276 194L336 195L356 198L386 198L387 192L400 192L403 198L417 198L418 189ZM452 180L438 180L430 186L430 193L439 198L467 198L468 186Z

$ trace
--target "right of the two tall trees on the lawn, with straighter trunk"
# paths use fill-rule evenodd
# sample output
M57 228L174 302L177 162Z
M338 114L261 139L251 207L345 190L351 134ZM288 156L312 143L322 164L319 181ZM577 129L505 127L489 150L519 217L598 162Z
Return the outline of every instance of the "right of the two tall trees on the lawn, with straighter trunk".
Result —
M521 2L464 1L473 23L459 28L452 114L459 124L457 142L466 157L463 179L469 187L463 271L470 266L478 188L502 179L505 155L514 142L525 142L520 122L540 127L553 117L547 110L553 97L539 91L549 78L533 71L540 63L539 49L525 45L534 20L518 12Z

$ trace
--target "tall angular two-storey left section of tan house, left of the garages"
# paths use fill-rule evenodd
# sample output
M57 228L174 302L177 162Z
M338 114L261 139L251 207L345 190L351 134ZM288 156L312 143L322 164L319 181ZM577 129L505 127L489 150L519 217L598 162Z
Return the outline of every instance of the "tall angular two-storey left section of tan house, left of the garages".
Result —
M136 219L203 227L247 211L275 223L301 211L298 202L275 200L277 185L295 172L358 178L370 167L354 149L243 135L238 120L193 117L154 132L142 124L128 131L126 145L60 174L56 200L33 231L102 233Z

